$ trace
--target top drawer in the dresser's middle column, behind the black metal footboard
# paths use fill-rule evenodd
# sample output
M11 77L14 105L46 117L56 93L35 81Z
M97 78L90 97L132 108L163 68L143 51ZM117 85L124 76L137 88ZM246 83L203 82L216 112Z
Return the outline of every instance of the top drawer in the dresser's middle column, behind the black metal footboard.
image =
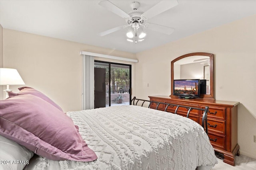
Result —
M170 102L164 101L164 103L170 103ZM198 105L179 104L179 103L171 103L171 104L176 104L176 105L180 105L180 106L188 106L188 107L199 108ZM166 106L167 106L167 105L166 105ZM166 106L165 106L165 107L166 107ZM168 112L171 112L171 113L174 113L175 110L176 110L176 108L177 108L177 106L169 106L169 107L167 108L167 111L168 111ZM178 113L178 114L186 114L186 115L187 115L187 113L188 113L188 108L179 107L177 113ZM190 110L189 115L199 115L199 111L192 109L192 110Z

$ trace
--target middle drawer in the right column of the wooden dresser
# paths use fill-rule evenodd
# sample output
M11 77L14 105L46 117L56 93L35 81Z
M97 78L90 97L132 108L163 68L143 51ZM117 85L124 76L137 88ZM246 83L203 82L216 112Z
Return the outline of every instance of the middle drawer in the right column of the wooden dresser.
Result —
M225 121L207 118L208 131L226 135ZM202 124L202 117L200 117L200 124Z

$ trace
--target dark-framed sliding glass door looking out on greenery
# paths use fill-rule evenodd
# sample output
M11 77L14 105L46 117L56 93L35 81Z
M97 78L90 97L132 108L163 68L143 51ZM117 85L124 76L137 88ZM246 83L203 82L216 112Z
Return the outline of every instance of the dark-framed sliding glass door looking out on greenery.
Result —
M94 108L129 105L131 65L94 62Z

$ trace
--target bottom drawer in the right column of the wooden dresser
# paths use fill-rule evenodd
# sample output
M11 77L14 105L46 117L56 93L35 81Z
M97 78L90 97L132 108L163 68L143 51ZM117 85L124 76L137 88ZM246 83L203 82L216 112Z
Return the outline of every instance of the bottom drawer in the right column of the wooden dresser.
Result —
M226 137L208 132L210 143L214 148L226 149Z

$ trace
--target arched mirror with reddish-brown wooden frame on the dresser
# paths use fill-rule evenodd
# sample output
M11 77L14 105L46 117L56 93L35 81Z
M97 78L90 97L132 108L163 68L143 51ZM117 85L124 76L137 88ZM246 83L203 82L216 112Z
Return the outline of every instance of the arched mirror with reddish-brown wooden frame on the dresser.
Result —
M173 80L200 79L206 80L206 94L200 98L214 100L213 54L190 53L182 55L171 62L171 95L173 95Z

